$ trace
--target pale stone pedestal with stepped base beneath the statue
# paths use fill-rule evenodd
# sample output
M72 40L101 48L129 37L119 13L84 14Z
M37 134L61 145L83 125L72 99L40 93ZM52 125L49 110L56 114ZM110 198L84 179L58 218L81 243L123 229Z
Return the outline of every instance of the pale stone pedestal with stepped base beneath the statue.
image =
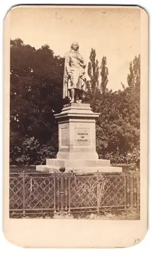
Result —
M56 114L58 122L58 146L56 158L47 159L46 165L37 165L41 172L76 173L122 172L121 167L110 165L110 160L98 159L96 152L95 119L99 113L93 113L90 104L71 103L63 106L61 113Z

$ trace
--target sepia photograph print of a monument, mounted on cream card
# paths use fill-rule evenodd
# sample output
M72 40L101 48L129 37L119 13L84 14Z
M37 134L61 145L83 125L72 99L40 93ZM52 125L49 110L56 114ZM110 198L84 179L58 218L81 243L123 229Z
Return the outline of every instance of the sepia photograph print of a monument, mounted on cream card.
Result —
M140 13L10 10L9 218L140 220Z

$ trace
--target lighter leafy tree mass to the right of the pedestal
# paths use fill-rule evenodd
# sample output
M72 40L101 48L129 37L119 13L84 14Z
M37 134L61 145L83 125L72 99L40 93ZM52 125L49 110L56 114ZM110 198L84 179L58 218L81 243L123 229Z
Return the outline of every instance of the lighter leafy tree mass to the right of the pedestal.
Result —
M134 75L133 75L134 74ZM135 79L133 78L135 77ZM140 163L140 56L130 63L128 87L105 91L94 99L100 113L96 121L96 150L112 162ZM99 103L98 103L99 102Z

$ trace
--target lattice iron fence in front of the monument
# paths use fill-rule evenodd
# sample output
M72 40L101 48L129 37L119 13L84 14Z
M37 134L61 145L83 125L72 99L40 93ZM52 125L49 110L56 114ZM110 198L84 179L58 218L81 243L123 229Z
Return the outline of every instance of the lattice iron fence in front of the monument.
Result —
M140 211L140 175L10 173L10 217L74 212Z

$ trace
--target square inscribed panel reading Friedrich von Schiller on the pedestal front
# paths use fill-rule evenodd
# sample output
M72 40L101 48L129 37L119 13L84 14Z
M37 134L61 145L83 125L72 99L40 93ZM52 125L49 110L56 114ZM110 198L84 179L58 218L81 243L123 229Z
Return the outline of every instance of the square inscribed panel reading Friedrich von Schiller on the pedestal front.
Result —
M91 129L90 128L75 128L75 146L91 146Z

